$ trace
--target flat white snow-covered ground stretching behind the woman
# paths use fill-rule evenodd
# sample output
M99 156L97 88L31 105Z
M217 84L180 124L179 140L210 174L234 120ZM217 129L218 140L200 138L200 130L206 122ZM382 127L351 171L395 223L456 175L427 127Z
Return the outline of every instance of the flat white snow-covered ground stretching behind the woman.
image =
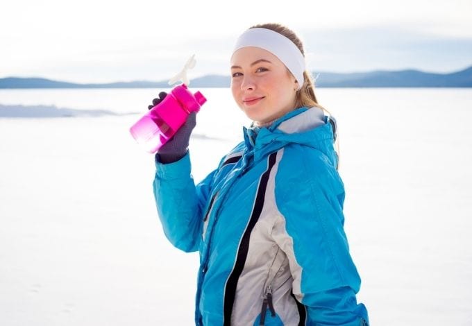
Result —
M339 124L371 324L472 325L472 91L318 95ZM225 101L199 113L196 180L239 139L245 119ZM162 234L152 156L128 134L137 118L0 118L0 325L192 325L198 255Z

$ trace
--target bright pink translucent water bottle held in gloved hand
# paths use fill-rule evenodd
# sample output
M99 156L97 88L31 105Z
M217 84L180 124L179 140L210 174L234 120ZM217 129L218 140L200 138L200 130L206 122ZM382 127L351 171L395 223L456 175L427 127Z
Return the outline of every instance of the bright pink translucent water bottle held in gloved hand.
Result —
M149 153L155 153L176 133L190 112L199 112L206 102L201 92L192 94L187 85L174 87L154 108L149 110L130 128L138 144Z

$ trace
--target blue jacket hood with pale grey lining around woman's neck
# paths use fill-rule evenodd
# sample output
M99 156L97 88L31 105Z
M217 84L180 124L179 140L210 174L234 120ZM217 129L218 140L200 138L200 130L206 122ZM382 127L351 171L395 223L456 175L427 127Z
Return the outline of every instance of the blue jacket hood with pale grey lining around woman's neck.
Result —
M337 154L334 149L335 120L324 115L319 108L298 108L267 128L244 128L246 151L254 151L254 158L277 151L289 143L309 146L325 154L334 166L337 166Z

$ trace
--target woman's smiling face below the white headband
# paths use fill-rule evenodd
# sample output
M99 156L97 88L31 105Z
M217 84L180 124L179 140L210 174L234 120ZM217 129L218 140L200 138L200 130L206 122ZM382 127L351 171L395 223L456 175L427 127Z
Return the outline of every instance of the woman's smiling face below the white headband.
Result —
M231 92L247 117L265 123L294 110L296 79L275 55L258 47L231 58Z

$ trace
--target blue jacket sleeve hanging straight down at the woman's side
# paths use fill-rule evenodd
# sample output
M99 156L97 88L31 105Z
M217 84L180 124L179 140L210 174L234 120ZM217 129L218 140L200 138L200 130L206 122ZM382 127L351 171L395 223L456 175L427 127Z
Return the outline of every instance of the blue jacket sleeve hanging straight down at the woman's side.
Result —
M289 161L276 177L281 216L273 238L289 259L305 325L368 325L366 308L355 296L360 276L344 232L342 180L318 151L303 151L303 160Z

